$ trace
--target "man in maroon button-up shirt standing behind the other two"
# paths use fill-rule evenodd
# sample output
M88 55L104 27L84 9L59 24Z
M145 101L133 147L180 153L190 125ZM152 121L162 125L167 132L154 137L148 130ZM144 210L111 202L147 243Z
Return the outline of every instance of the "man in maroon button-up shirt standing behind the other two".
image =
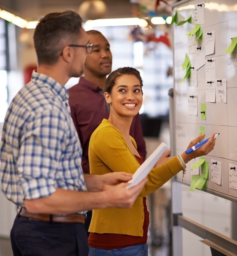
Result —
M84 77L68 89L71 116L82 144L82 169L89 173L88 147L92 132L103 118L109 117L109 105L104 98L106 75L111 73L112 54L107 39L97 30L87 31L89 42L94 45L84 66ZM137 143L137 150L145 160L146 148L139 114L133 118L130 135ZM105 138L106 139L106 138ZM88 230L91 212L87 214Z

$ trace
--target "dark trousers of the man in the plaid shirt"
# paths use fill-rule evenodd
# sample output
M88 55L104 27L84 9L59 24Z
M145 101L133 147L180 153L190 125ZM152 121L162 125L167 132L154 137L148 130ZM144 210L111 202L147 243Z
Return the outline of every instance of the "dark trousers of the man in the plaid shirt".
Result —
M14 256L88 256L87 232L80 223L35 221L17 215L10 236Z

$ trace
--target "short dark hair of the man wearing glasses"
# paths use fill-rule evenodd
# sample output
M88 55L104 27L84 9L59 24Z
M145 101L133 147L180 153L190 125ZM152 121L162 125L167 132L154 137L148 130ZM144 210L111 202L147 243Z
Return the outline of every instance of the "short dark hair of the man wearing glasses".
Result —
M78 40L82 18L72 10L49 13L34 31L34 48L39 64L55 64L67 44Z

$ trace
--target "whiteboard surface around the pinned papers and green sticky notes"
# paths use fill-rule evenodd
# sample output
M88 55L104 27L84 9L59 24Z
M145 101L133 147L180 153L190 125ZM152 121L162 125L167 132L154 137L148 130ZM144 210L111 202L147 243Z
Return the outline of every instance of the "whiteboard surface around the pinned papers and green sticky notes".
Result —
M198 42L205 45L205 39L208 40L207 33L214 32L215 47L212 54L204 56L205 64L202 67L191 70L195 70L197 74L197 86L193 86L193 77L180 83L184 77L181 64L184 62L186 53L190 58L191 67L195 67L195 62L198 62L195 53L191 53L191 43L186 34L194 29L197 23L195 22L197 5L200 4L204 6L204 23L200 24L203 37ZM186 22L182 26L177 26L175 23L172 25L174 154L186 150L186 145L191 139L199 135L200 126L204 127L206 138L212 132L220 132L215 149L205 156L205 160L209 163L209 176L202 190L237 202L237 189L230 187L231 181L233 185L236 179L231 176L235 172L233 174L233 170L229 168L229 166L236 166L237 175L237 47L231 53L224 53L231 44L231 38L237 37L237 2L236 0L183 0L173 5L172 15L176 11L185 20L191 15L192 22ZM211 63L207 60L215 60L214 69L209 68L208 65ZM210 74L212 78L209 77ZM208 79L226 81L226 103L206 101ZM190 114L190 96L197 99L197 115ZM201 118L201 103L206 104L206 120ZM211 160L213 159L221 162L221 184L211 181ZM184 176L184 183L187 185L191 184L190 170L191 163L188 163ZM199 173L202 174L202 168L199 169ZM177 175L177 180L181 182L182 172Z

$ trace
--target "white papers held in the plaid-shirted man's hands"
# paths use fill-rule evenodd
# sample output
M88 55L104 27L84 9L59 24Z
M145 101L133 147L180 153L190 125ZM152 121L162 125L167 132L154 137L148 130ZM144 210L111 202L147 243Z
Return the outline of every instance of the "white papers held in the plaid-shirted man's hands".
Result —
M127 189L136 186L140 181L142 181L166 150L167 145L164 142L161 142L156 150L138 167L137 171L133 174L131 181L128 182L131 184L127 186Z

